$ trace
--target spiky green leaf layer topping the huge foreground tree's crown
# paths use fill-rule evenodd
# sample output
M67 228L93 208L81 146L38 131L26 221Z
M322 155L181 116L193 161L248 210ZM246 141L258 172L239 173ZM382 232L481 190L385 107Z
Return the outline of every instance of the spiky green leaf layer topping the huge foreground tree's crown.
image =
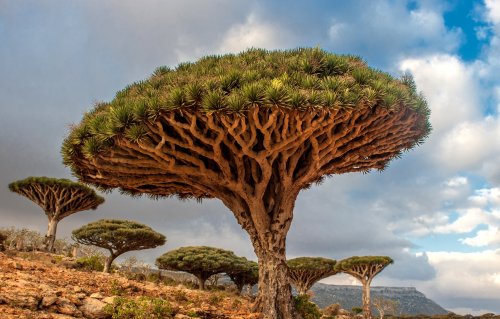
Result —
M124 136L137 142L147 123L183 108L204 112L242 112L249 108L356 109L409 107L428 118L425 100L409 76L395 79L369 68L360 58L318 48L285 51L250 49L213 55L176 68L158 68L144 81L127 86L111 102L99 103L72 128L62 154L93 157ZM422 123L430 131L428 121Z

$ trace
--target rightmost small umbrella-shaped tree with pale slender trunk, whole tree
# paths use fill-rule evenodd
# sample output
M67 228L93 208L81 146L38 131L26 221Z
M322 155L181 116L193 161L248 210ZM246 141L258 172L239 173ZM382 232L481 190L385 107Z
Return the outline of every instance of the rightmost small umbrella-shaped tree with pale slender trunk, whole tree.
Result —
M358 279L363 285L363 315L372 318L370 285L373 278L394 261L387 256L354 256L337 262L335 270Z

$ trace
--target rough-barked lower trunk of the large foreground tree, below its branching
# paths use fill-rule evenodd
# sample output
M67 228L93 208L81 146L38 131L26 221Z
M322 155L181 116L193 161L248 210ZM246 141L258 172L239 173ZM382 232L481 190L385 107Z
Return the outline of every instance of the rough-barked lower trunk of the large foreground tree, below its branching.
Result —
M285 250L256 249L259 258L259 294L255 311L264 319L293 319L295 309Z

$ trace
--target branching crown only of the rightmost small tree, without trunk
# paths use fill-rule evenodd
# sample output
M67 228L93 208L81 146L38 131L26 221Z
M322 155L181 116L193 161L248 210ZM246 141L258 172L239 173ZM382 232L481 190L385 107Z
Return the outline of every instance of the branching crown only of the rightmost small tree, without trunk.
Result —
M345 272L361 282L371 281L394 261L387 256L354 256L337 262L335 270Z

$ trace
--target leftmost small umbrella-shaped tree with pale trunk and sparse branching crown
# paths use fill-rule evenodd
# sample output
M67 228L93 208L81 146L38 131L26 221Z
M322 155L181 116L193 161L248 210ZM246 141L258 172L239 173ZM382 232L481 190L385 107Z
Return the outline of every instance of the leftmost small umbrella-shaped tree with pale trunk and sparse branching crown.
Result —
M49 226L44 246L48 252L54 250L57 224L61 219L82 210L96 209L104 203L104 198L93 189L67 179L28 177L10 183L9 189L33 201L47 215Z

